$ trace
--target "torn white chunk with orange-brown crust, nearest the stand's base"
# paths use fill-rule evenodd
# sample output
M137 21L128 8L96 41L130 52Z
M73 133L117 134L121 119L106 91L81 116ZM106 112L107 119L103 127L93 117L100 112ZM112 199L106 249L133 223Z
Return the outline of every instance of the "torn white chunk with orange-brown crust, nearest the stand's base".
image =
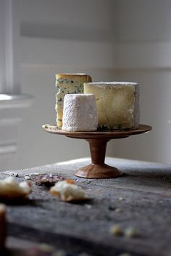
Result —
M52 195L57 195L62 201L76 201L86 199L86 194L82 188L75 184L73 180L59 181L51 187Z

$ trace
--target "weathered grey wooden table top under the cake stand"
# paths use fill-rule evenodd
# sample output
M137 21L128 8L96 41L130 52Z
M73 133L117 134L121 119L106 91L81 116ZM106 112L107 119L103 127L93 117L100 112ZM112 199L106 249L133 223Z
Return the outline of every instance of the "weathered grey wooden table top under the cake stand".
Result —
M8 235L54 244L76 254L170 256L171 165L107 157L107 164L125 175L104 180L74 176L75 170L90 161L72 160L18 170L17 181L22 181L25 173L58 173L73 178L91 200L81 204L60 202L48 189L34 185L30 203L7 206ZM0 173L0 178L7 176L8 172ZM123 230L137 228L139 235L114 236L109 229L115 224Z

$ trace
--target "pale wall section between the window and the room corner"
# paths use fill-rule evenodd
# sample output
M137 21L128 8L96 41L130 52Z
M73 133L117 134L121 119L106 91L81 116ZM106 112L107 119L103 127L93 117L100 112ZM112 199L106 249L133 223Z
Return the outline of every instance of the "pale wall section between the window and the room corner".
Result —
M20 0L22 92L33 94L25 110L15 168L89 156L88 143L46 133L54 124L55 74L88 73L112 80L112 0ZM113 146L107 151L114 154ZM14 165L13 165L14 166Z

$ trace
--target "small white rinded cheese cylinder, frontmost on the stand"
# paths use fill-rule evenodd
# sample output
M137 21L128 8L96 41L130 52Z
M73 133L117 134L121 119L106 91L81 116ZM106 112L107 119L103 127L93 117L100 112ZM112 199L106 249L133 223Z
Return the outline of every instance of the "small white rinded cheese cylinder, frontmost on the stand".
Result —
M62 123L64 131L96 131L98 119L95 96L93 94L65 95Z

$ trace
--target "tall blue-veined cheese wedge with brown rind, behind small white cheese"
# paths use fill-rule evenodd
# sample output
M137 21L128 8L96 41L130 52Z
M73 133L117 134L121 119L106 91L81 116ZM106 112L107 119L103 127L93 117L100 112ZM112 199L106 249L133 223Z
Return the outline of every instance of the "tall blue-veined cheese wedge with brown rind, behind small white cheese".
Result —
M56 87L58 93L56 94L55 110L57 111L57 126L62 128L62 115L64 95L66 94L82 94L83 83L91 82L91 76L86 74L57 74L56 75Z

